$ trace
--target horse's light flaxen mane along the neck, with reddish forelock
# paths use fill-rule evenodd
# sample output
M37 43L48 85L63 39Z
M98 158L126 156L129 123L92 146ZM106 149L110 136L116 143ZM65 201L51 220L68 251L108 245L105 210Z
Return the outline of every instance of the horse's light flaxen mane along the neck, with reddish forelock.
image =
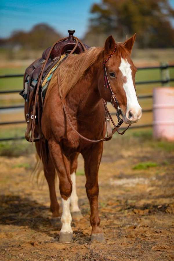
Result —
M114 56L126 57L127 51L123 43L116 43L117 49ZM102 47L91 47L88 51L79 55L70 55L63 61L51 79L48 91L58 85L61 99L64 99L68 92L83 78L86 71L97 61L99 55L104 51Z

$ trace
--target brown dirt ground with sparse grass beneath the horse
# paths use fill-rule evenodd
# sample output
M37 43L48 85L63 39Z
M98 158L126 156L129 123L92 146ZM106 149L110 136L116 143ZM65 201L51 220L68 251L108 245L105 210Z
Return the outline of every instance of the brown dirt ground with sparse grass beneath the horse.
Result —
M105 144L99 213L106 244L90 242L81 157L77 193L84 218L72 222L69 244L59 243L60 228L50 223L46 180L40 176L38 187L30 177L35 155L1 157L0 260L174 260L174 152L134 140L117 150L116 138ZM156 164L133 169L149 161ZM60 202L58 181L57 196Z

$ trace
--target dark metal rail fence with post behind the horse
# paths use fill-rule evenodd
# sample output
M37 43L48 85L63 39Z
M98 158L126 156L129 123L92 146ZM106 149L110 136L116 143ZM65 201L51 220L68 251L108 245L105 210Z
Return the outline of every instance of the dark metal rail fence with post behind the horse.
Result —
M168 84L170 81L174 81L174 78L169 77L169 71L168 68L174 68L174 65L168 65L168 64L162 64L161 66L146 66L146 67L139 67L138 70L151 70L151 69L160 69L161 70L161 79L160 80L152 80L152 81L137 81L136 85L141 84L155 84L155 83L161 83L162 85ZM0 75L0 79L2 78L13 78L13 77L23 77L23 74L6 74L6 75ZM19 93L21 90L4 90L0 91L0 94L8 94L8 93ZM146 94L146 95L140 95L139 99L149 99L153 98L153 95ZM0 110L6 110L6 109L20 109L24 108L23 104L17 105L17 106L2 106L0 107ZM153 109L144 109L142 110L143 113L152 112ZM116 115L116 113L111 113L111 115ZM11 121L11 122L0 122L0 125L8 125L8 124L23 124L25 121ZM151 127L152 124L142 124L142 125L135 125L131 126L131 128L144 128L144 127ZM124 129L124 127L121 127L119 129ZM9 141L9 140L17 140L17 139L24 139L24 137L10 137L10 138L0 138L1 141Z

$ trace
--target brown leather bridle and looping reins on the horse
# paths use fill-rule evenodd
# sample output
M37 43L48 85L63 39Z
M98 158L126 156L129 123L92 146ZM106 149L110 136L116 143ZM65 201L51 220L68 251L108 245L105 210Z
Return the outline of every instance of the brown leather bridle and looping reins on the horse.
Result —
M77 40L77 38L76 38L76 40ZM111 86L110 86L110 82L109 82L108 75L107 75L107 70L106 70L106 67L105 67L106 62L107 62L107 61L110 59L110 57L114 54L115 50L116 50L116 45L115 45L114 51L109 55L109 57L108 57L108 58L104 61L104 63L103 63L103 68L104 68L104 87L106 86L106 88L109 88L109 89L110 89L110 92L111 92L111 95L112 95L112 96L111 96L111 104L113 105L114 108L115 108L115 105L117 106L117 107L116 107L116 110L117 110L116 115L117 115L117 119L118 119L118 123L117 123L117 125L115 125L115 122L113 121L113 118L112 118L112 116L111 116L111 114L110 114L110 112L109 112L109 110L108 110L108 108L107 108L106 102L105 102L104 99L102 99L102 100L103 100L103 103L104 103L104 107L105 107L105 122L106 122L107 137L105 137L105 138L103 138L103 139L94 140L94 139L88 139L88 138L84 137L83 135L81 135L81 134L74 128L74 126L73 126L73 124L72 124L72 122L71 122L71 120L70 120L70 117L69 117L69 115L68 115L68 112L67 112L67 110L66 110L65 104L63 104L63 109L64 109L65 115L66 115L66 117L67 117L67 119L68 119L68 122L69 122L71 128L73 129L73 131L75 131L75 132L78 134L78 136L79 136L80 138L82 138L82 139L84 139L84 140L86 140L86 141L88 141L88 142L98 143L98 142L103 142L103 141L110 140L110 139L112 138L113 134L114 134L116 131L117 131L117 133L119 133L120 135L123 135L123 134L127 131L127 129L129 128L129 126L131 125L131 124L129 124L128 127L127 127L123 132L121 132L121 133L118 131L118 128L123 124L123 120L120 118L121 110L120 110L120 108L119 108L118 100L117 100L117 98L115 97L115 94L113 93L113 90L112 90L112 88L111 88ZM113 124L113 126L114 126L113 130L112 130L111 126L110 126L110 120L111 120L111 122L112 122L112 124Z

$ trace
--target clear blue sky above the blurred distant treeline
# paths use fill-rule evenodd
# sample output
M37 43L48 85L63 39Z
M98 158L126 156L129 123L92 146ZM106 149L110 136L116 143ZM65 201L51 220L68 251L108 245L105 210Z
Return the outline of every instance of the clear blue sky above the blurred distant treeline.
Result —
M100 0L1 0L0 37L14 30L30 30L37 23L48 23L62 35L75 29L77 37L88 30L90 8ZM174 0L169 1L174 8Z

